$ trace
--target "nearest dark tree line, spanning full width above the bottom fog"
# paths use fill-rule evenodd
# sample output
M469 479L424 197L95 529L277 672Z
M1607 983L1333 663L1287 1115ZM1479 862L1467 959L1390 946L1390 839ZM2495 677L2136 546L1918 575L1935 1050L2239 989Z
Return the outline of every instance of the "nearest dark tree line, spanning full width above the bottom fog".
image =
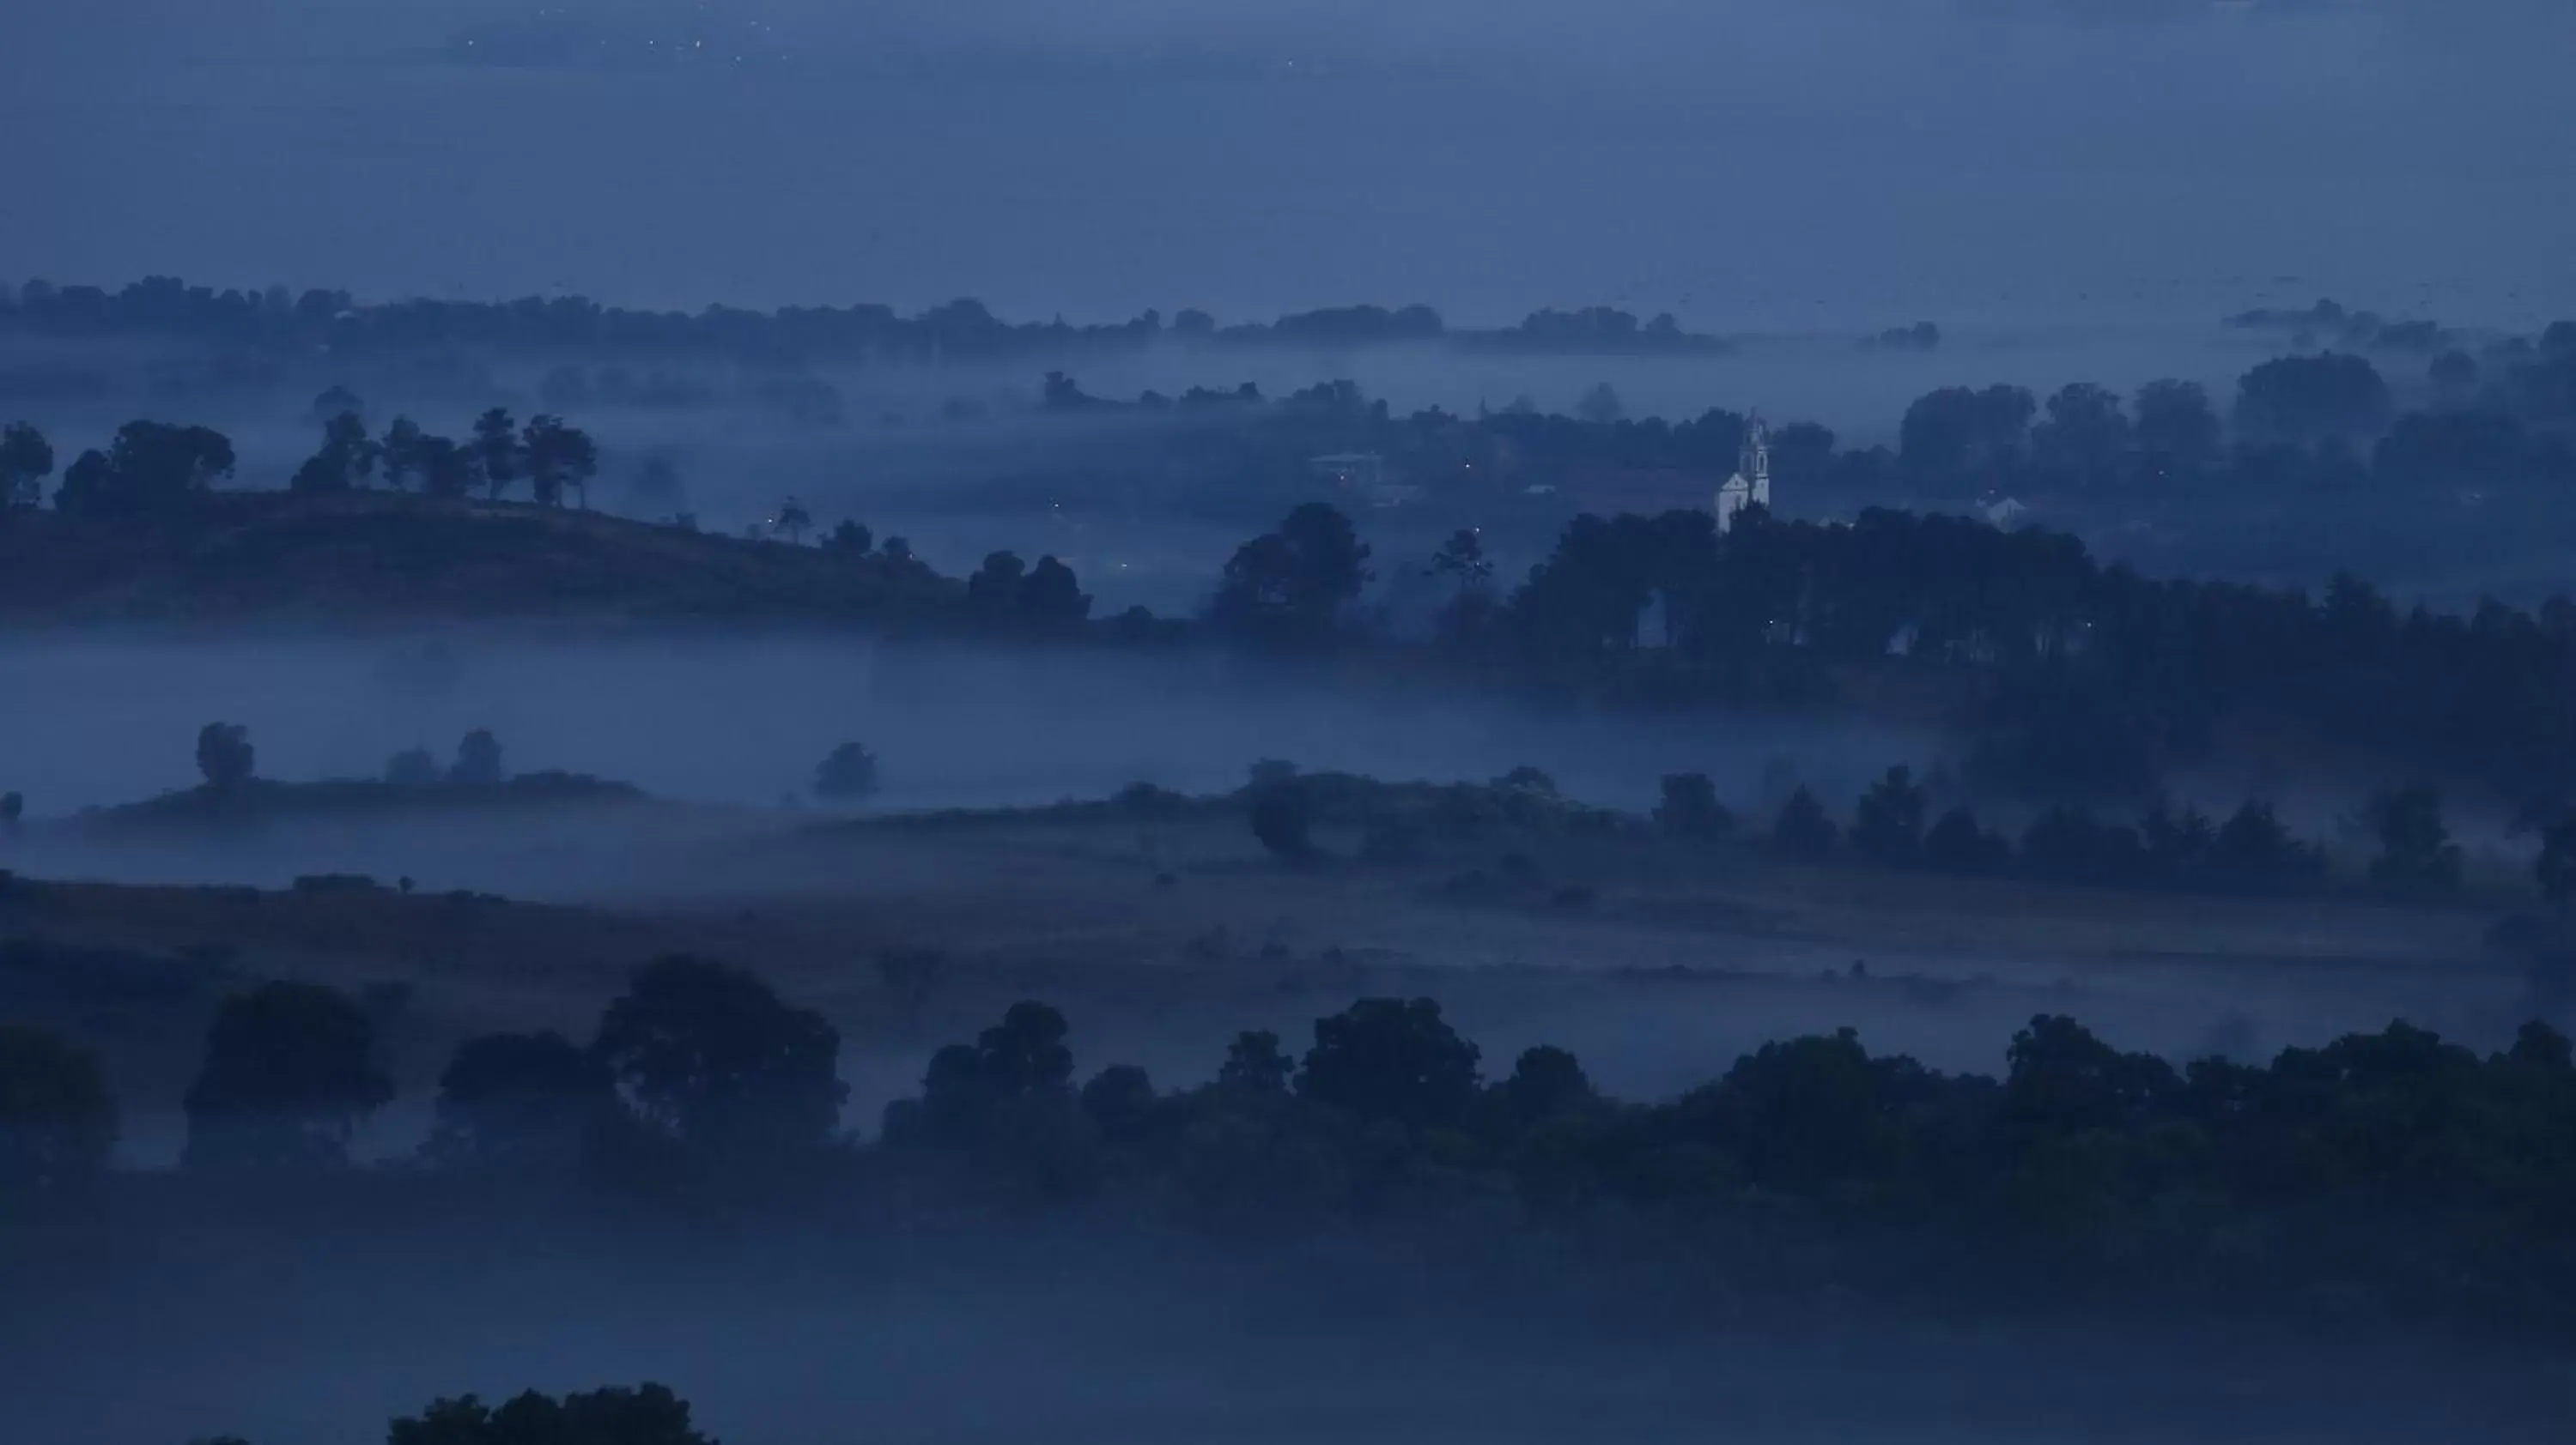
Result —
M1020 1002L938 1048L868 1141L842 1128L837 1059L835 1025L755 974L657 958L587 1041L464 1041L430 1141L389 1167L729 1208L817 1193L1123 1208L1257 1234L1507 1205L1535 1229L1677 1231L1659 1234L1669 1247L1901 1236L2027 1267L2035 1288L2066 1267L2228 1298L2295 1280L2576 1324L2576 1061L2543 1023L2483 1056L2393 1023L2272 1061L2174 1066L2040 1015L1999 1077L1837 1030L1628 1102L1553 1046L1489 1077L1432 999L1360 999L1314 1020L1303 1051L1242 1033L1211 1079L1177 1090L1131 1064L1079 1077L1066 1017ZM118 1110L95 1053L10 1025L0 1084L0 1190L23 1208L113 1185ZM206 1035L183 1169L327 1187L392 1097L361 1002L252 987Z

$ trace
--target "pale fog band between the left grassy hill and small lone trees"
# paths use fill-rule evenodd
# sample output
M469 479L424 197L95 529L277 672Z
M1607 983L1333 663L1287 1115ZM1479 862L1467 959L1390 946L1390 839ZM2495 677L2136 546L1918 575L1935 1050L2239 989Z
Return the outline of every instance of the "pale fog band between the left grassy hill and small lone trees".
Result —
M1577 798L1643 809L1664 773L1752 791L1770 760L1860 780L1922 742L1816 719L1548 713L1342 690L1200 652L999 652L786 634L0 636L0 791L28 817L198 783L209 721L250 729L263 778L374 778L492 729L513 770L564 768L659 798L806 796L842 742L881 757L876 809L1231 791L1262 757L1381 778L1535 765Z

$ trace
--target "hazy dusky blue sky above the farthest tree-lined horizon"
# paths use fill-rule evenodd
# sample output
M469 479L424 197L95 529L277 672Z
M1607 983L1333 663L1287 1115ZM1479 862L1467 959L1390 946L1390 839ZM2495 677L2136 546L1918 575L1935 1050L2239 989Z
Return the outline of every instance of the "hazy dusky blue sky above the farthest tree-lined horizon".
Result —
M2576 314L2563 0L13 10L10 281L1710 330Z

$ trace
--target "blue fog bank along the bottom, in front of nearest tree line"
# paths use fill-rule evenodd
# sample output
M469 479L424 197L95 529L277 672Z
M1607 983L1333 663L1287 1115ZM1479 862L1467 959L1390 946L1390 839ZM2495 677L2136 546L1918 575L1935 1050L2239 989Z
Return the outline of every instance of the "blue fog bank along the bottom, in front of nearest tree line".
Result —
M1401 1247L1033 1229L325 1226L10 1262L23 1440L353 1445L433 1396L665 1381L729 1445L2136 1445L2558 1440L2563 1368L2354 1327L1917 1314ZM139 1370L149 1370L147 1383Z

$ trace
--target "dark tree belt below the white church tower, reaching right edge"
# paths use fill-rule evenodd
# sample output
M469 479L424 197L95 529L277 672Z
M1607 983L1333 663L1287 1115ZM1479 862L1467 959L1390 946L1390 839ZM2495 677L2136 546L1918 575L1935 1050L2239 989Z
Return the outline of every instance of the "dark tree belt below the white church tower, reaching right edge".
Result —
M1350 636L1373 549L1324 502L1226 562L1216 628L1267 647ZM2411 765L2458 768L2517 804L2576 796L2576 603L2401 610L2339 574L2303 587L2151 580L2050 531L1868 510L1728 533L1703 510L1579 515L1510 592L1473 531L1425 572L1450 580L1435 647L1551 690L1638 701L1819 703L1855 672L1958 680L1981 786L2136 801L2264 713Z

